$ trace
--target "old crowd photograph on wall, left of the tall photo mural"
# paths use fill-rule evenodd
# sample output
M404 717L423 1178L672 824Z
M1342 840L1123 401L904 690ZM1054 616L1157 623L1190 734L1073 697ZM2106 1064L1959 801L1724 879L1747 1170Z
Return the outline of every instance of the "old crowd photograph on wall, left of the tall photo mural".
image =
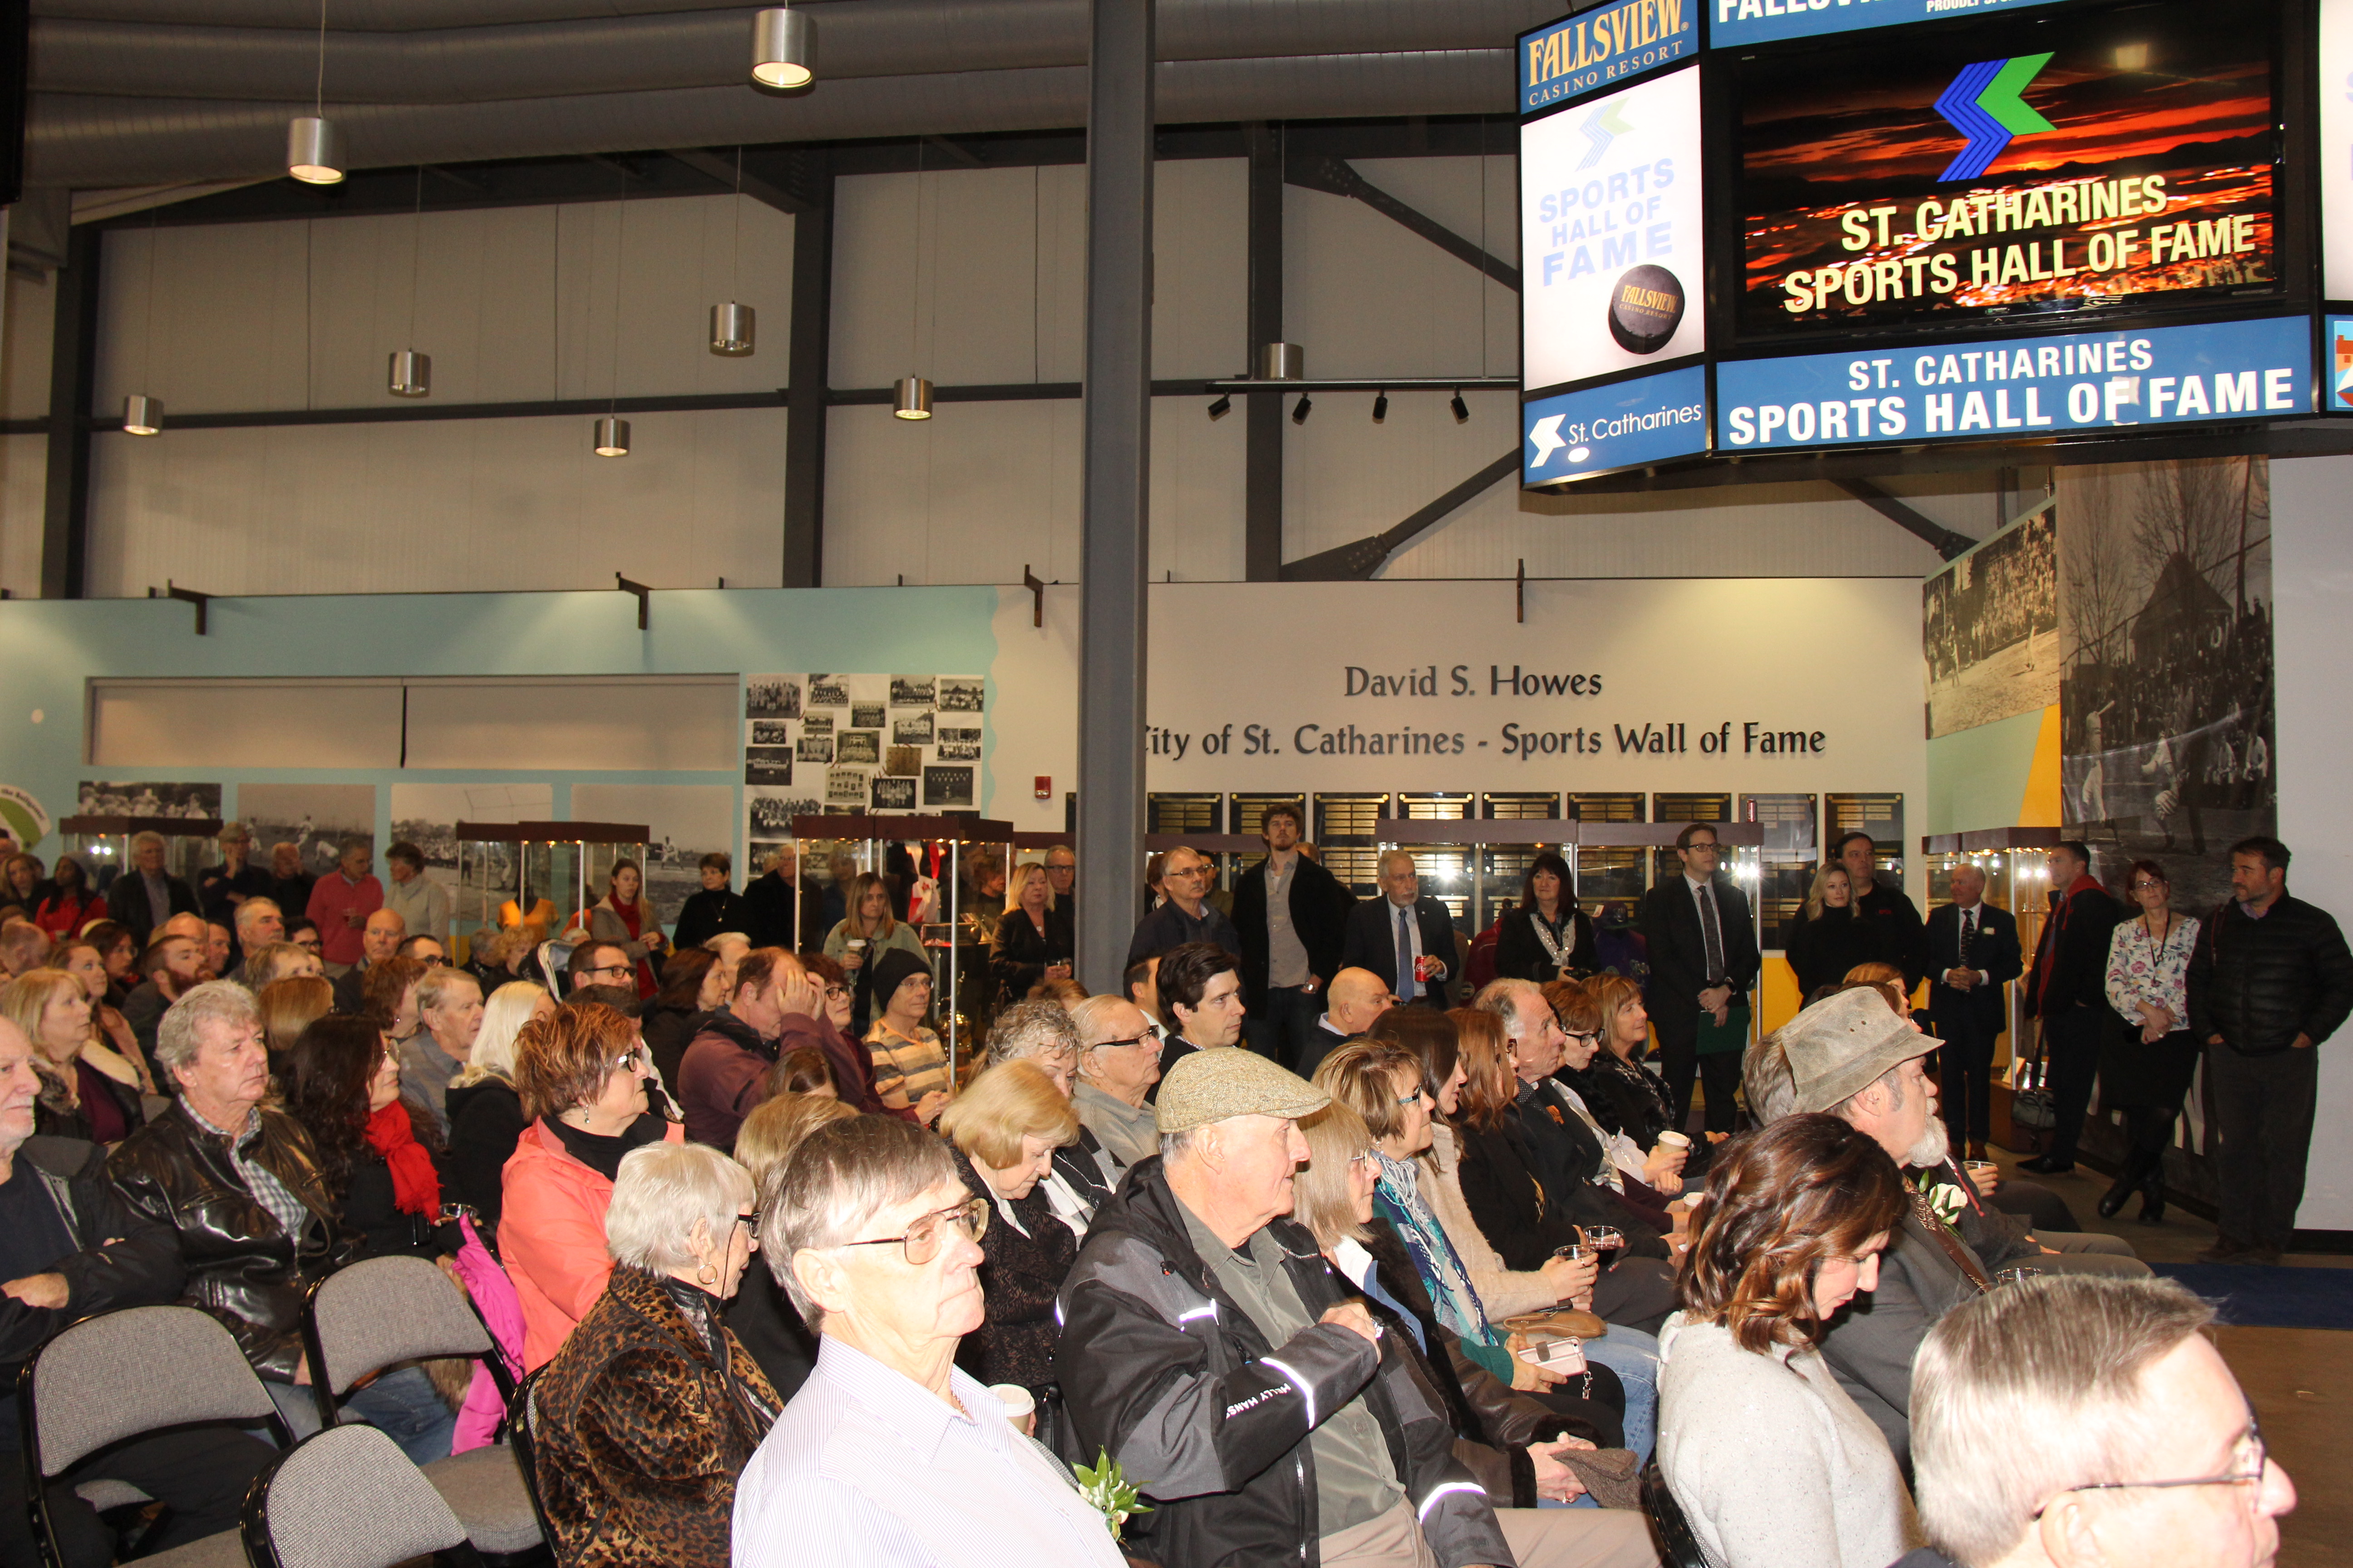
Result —
M2057 510L2021 517L1922 585L1932 741L2059 701Z

